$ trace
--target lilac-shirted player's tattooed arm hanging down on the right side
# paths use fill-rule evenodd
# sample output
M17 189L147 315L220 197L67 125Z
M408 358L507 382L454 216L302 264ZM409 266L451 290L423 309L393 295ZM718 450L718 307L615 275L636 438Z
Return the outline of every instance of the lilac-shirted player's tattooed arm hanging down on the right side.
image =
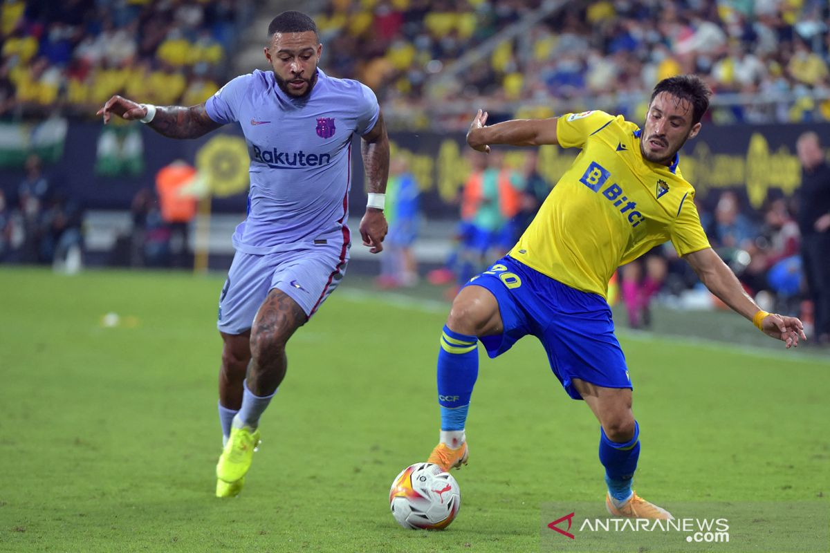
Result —
M364 134L360 144L363 153L364 172L366 173L367 192L369 194L383 194L386 192L386 181L389 177L389 137L386 133L386 124L383 123L383 113L378 115L378 122L369 133ZM369 251L377 254L383 251L383 239L386 237L388 225L383 210L367 207L363 219L360 221L360 236Z

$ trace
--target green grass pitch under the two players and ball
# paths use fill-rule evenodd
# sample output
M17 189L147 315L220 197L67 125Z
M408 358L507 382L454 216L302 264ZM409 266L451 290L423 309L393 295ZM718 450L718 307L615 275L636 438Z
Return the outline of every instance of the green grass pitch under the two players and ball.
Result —
M542 503L603 501L598 424L530 338L482 353L457 520L400 528L388 488L437 441L446 313L348 280L292 338L247 488L219 500L222 279L0 270L0 551L538 551ZM827 501L826 359L622 341L644 497Z

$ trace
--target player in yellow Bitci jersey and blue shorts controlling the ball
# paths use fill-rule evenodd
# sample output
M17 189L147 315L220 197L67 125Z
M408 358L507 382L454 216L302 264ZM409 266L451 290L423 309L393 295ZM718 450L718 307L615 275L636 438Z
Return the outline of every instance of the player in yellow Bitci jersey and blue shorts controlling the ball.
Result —
M806 339L798 318L766 313L744 293L701 228L695 190L683 178L678 151L701 130L710 95L695 75L662 80L642 129L601 111L486 126L487 114L479 110L467 133L476 150L559 144L582 152L519 243L471 279L452 303L438 354L441 438L429 462L445 470L466 464L464 425L478 375L477 342L496 357L532 334L564 390L584 400L599 420L608 512L671 518L631 488L640 428L605 299L614 271L671 240L703 284L762 332L788 348Z

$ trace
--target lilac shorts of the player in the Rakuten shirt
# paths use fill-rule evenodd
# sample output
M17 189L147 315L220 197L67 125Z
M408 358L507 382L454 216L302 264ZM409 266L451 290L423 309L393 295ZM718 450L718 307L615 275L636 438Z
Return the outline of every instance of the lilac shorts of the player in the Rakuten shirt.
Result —
M219 296L217 328L227 334L251 329L271 289L280 289L311 317L346 274L349 249L315 245L302 250L254 255L240 251Z

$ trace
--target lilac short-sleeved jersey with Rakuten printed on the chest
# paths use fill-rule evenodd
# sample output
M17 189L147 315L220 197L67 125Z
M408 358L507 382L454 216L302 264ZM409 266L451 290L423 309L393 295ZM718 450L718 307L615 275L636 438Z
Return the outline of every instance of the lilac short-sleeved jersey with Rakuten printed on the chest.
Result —
M368 86L317 70L305 98L286 95L271 71L238 76L207 99L207 115L242 126L251 156L247 219L233 246L247 254L349 242L351 138L378 121Z

